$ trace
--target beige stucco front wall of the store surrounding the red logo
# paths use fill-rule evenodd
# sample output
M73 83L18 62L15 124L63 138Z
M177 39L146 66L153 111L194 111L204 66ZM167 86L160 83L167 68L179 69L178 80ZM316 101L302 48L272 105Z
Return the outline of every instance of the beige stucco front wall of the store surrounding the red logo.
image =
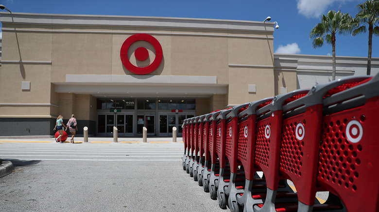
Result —
M122 65L120 48L126 38L136 33L153 35L163 49L162 63L149 75L216 76L217 84L227 88L226 94L195 97L197 115L272 96L276 92L273 31L9 22L2 26L5 41L2 61L5 62L0 70L0 103L20 104L1 105L2 117L55 118L62 114L69 118L75 114L79 120L96 121L95 97L57 93L55 87L66 83L66 75L134 75ZM136 46L140 45L154 49L148 42L138 41ZM132 45L130 51L134 48ZM149 60L154 60L153 53ZM30 81L31 89L22 91L22 81ZM249 93L249 84L256 85L257 92ZM31 109L16 110L17 107Z

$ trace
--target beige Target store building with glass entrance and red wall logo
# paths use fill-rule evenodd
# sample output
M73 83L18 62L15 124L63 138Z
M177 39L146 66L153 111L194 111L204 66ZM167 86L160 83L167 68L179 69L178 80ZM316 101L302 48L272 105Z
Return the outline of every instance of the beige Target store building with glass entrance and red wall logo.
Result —
M75 114L79 135L116 126L139 136L145 126L171 136L186 118L312 86L314 63L327 67L319 82L331 71L331 57L274 55L272 22L6 12L0 21L0 136L51 136L59 114ZM364 58L353 63L337 76L364 73Z

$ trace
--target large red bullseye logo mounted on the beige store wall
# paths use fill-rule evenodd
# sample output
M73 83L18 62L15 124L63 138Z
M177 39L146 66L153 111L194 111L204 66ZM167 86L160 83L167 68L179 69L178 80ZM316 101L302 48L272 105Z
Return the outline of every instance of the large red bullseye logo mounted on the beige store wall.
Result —
M155 59L148 66L137 67L133 65L128 58L129 47L132 44L136 43L137 41L146 41L150 43L151 45L153 45L155 49ZM134 53L134 56L136 57L138 61L146 61L149 58L149 52L145 47L138 47ZM163 51L162 51L162 46L159 44L158 40L156 40L153 36L149 34L134 34L130 36L129 38L127 38L122 44L120 57L121 57L121 62L125 66L126 69L128 69L129 71L137 75L146 75L146 74L152 73L159 67L163 59Z

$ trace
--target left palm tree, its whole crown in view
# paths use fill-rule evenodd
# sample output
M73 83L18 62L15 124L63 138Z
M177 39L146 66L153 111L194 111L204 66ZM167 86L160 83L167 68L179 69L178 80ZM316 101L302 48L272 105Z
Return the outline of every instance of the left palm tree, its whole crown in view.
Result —
M324 45L324 38L327 44L332 45L332 80L336 79L336 34L351 33L352 17L348 13L343 14L341 11L329 11L327 15L321 17L321 23L318 23L311 31L310 38L313 39L313 48Z

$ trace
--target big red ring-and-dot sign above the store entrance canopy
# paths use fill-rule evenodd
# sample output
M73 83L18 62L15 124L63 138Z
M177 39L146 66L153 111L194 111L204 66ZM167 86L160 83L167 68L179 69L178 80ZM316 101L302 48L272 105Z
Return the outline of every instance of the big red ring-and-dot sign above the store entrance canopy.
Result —
M155 51L155 59L153 62L150 62L148 49L152 52L153 50ZM134 58L132 58L133 53ZM155 37L140 33L134 34L124 41L121 45L120 57L123 66L127 70L137 75L147 75L159 67L163 59L163 51L162 46ZM134 61L134 59L136 65L131 62L131 60Z

